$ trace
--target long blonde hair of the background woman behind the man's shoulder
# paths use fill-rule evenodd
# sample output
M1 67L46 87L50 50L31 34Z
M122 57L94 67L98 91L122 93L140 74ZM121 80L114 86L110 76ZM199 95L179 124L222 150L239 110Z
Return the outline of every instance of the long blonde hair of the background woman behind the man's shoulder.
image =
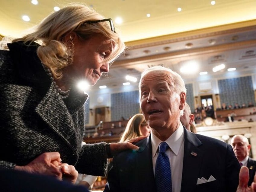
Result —
M140 125L147 124L142 114L134 115L127 123L126 128L123 132L123 135L120 139L120 142L128 141L134 137L142 136L140 133Z

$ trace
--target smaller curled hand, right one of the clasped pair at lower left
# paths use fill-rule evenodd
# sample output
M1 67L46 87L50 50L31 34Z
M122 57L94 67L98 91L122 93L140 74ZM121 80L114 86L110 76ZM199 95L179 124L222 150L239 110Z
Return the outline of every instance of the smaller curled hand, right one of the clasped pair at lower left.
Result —
M75 184L75 181L78 177L78 171L75 170L75 167L67 163L62 163L60 167L62 171L62 180L70 181Z

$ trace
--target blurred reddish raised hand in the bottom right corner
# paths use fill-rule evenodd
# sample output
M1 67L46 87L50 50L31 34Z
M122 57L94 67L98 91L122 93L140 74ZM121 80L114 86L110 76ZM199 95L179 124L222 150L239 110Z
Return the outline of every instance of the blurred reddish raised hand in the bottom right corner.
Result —
M245 166L242 166L239 172L239 185L236 192L256 192L256 177L254 176L254 182L251 186L248 187L249 181L249 169Z

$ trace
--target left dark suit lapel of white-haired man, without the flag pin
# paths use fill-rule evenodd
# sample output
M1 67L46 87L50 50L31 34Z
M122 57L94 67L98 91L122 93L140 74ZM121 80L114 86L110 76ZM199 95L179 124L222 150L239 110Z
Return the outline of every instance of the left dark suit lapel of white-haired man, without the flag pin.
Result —
M151 136L145 139L145 142L140 146L136 158L136 165L136 169L141 170L137 173L138 178L136 179L139 185L141 185L141 191L156 191L152 164Z

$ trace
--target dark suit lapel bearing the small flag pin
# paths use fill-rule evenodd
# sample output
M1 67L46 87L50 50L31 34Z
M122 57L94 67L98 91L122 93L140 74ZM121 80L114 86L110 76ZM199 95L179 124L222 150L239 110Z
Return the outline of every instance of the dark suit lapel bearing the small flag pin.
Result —
M204 155L198 148L200 145L202 145L202 143L196 135L184 128L184 158L181 191L195 190Z

